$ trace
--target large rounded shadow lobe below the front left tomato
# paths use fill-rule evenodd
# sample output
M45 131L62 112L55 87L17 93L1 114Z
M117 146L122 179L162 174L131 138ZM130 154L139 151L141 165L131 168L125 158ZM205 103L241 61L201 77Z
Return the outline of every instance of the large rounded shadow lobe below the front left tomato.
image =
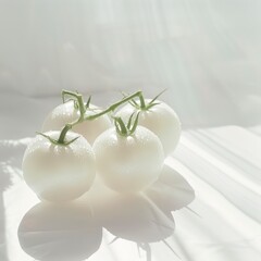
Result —
M40 261L80 261L101 244L102 227L86 202L33 207L18 227L23 250Z

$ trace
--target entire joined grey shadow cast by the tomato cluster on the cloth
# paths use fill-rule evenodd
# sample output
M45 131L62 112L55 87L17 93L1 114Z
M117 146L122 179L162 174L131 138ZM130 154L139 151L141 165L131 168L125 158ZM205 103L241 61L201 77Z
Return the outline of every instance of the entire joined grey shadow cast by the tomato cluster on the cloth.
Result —
M37 260L79 261L99 249L103 226L116 239L136 243L149 261L151 243L163 241L174 252L165 240L175 229L172 211L194 198L191 186L166 165L160 178L140 194L117 194L96 178L90 191L75 202L41 202L30 209L20 224L18 239Z

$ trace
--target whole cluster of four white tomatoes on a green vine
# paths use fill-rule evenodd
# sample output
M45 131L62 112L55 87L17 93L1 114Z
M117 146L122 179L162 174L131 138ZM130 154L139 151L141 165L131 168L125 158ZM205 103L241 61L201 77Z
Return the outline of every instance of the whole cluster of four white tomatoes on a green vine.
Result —
M54 202L80 197L96 173L120 192L148 187L181 136L177 114L158 97L144 99L137 91L102 110L90 98L85 103L80 94L63 91L63 103L25 151L25 182L40 199Z

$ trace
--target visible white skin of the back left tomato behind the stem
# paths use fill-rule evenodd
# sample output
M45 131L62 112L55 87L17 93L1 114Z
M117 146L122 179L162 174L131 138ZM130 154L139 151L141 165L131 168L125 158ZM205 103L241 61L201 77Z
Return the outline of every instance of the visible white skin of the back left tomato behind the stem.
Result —
M91 110L87 110L85 115L92 115L101 112L95 105L90 105ZM47 116L42 125L42 132L61 130L66 123L72 123L79 117L79 111L75 109L73 101L67 101L55 107ZM96 120L85 121L73 126L72 130L83 135L90 145L104 130L112 126L110 117L104 114Z

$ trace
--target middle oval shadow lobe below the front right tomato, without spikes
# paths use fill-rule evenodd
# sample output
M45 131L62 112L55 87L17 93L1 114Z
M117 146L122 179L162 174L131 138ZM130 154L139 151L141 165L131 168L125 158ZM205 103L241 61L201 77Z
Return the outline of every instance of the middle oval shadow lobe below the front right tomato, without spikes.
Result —
M145 195L114 195L99 210L99 217L114 236L135 243L160 241L175 227L171 211L161 211Z

